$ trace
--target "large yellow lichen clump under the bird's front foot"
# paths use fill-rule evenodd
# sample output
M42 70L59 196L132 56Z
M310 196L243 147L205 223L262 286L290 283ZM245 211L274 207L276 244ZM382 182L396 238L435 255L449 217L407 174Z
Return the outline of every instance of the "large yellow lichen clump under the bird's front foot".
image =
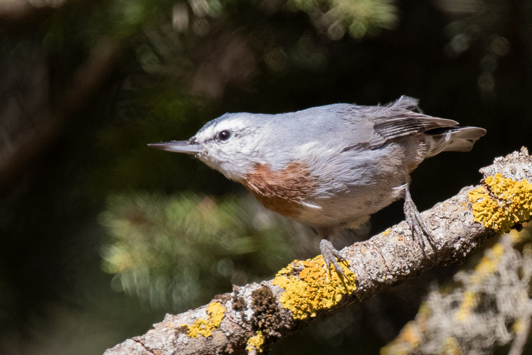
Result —
M346 262L339 264L348 280L334 269L329 273L322 255L294 260L279 271L273 284L285 289L279 298L282 307L291 310L295 319L315 317L318 310L334 306L344 294L356 290L356 275Z

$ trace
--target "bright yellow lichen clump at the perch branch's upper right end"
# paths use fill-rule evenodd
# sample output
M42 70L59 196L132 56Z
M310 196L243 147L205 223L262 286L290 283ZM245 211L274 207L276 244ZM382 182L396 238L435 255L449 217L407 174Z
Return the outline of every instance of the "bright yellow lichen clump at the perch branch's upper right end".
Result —
M492 195L484 186L469 192L476 222L483 223L498 233L505 233L514 224L530 219L532 184L525 179L519 182L503 178L501 174L488 176L485 183Z

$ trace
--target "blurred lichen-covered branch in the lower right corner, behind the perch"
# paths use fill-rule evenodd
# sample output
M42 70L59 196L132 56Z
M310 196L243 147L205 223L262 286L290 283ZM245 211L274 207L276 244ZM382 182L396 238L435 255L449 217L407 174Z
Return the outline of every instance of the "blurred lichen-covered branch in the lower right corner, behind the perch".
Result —
M532 300L532 224L498 237L474 268L453 277L421 303L381 355L488 354L511 342L521 355L528 340Z

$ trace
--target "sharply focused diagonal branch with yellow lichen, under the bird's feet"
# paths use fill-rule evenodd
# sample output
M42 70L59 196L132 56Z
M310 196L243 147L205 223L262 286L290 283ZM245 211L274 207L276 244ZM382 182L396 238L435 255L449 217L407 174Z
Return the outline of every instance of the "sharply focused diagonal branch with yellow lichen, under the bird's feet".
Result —
M349 280L326 273L321 255L296 260L273 280L235 286L203 307L167 315L146 334L105 354L260 353L313 319L326 318L436 265L461 260L495 235L495 229L504 232L530 219L532 158L526 148L495 159L481 172L483 185L464 187L421 213L434 237L426 258L401 222L343 249Z

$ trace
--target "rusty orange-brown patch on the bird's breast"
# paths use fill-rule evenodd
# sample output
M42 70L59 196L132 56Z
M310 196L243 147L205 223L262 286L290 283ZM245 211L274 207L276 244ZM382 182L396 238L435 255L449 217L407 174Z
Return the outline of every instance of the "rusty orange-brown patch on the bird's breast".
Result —
M299 216L302 202L318 188L318 179L303 162L289 163L282 170L255 163L242 183L265 208L292 218Z

